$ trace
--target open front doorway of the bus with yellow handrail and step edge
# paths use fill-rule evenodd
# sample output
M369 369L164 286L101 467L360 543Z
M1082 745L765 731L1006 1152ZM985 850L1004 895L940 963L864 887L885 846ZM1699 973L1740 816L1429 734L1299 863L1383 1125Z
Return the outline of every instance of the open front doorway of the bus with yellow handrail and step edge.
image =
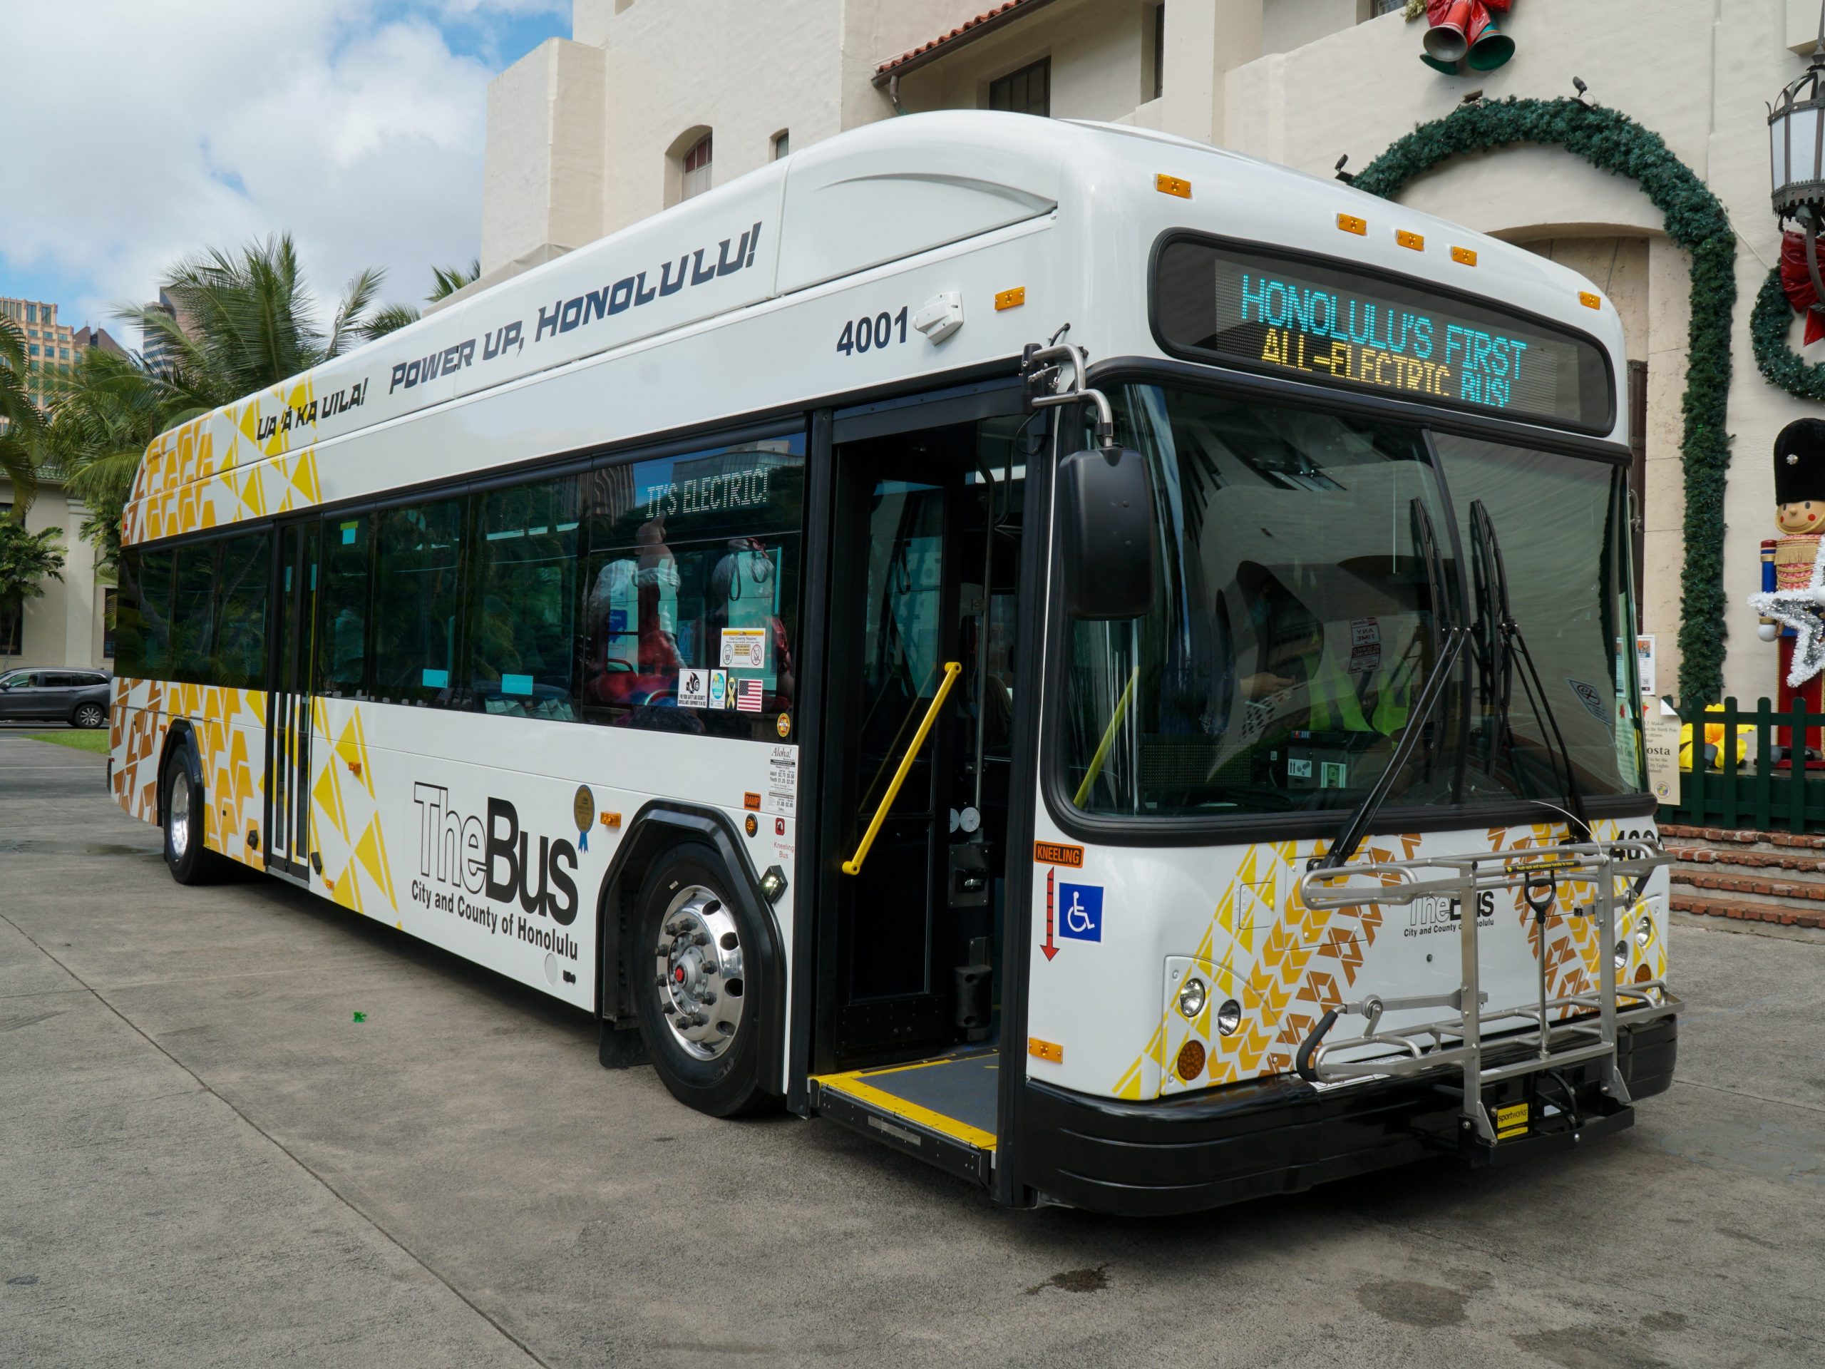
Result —
M810 1101L987 1183L1029 433L969 405L836 423Z

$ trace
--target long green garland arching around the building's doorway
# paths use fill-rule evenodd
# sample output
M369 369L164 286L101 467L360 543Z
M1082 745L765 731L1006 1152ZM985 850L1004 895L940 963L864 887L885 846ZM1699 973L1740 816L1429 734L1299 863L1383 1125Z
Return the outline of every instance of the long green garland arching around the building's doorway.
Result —
M1392 199L1413 177L1451 157L1518 142L1559 146L1591 166L1633 179L1666 215L1666 235L1692 254L1692 330L1686 338L1684 434L1679 442L1686 484L1679 697L1719 699L1726 633L1723 491L1730 469L1725 414L1730 398L1730 312L1736 308L1730 219L1659 133L1615 110L1571 99L1460 106L1394 142L1356 177L1356 188Z

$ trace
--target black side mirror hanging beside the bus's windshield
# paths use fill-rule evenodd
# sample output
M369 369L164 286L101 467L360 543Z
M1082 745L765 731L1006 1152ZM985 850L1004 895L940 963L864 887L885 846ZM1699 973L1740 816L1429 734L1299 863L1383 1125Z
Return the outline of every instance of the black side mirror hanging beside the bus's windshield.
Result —
M1079 451L1058 465L1064 611L1108 622L1153 606L1153 491L1137 451Z

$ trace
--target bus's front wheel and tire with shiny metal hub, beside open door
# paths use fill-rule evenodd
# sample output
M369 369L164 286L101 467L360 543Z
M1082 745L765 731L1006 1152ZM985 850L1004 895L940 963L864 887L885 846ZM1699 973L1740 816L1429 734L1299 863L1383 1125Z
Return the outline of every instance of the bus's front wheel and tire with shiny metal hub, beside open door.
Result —
M641 883L628 938L628 984L653 1068L672 1097L712 1117L761 1112L759 927L726 896L715 851L681 841Z

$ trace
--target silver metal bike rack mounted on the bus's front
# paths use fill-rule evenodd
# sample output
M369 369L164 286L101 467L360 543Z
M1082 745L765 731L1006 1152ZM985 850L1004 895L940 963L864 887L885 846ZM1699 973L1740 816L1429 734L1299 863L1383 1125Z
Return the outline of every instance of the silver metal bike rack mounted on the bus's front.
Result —
M1617 986L1615 953L1615 880L1646 880L1661 865L1672 863L1659 845L1641 840L1575 841L1549 847L1528 847L1480 856L1425 856L1420 860L1363 862L1336 869L1312 869L1299 880L1299 896L1307 907L1334 909L1361 904L1405 905L1418 898L1453 898L1460 909L1458 951L1462 984L1453 993L1411 998L1382 998L1369 995L1358 1002L1329 1008L1299 1046L1298 1073L1318 1084L1340 1084L1356 1079L1405 1079L1434 1071L1462 1071L1464 1112L1460 1128L1493 1146L1496 1126L1482 1101L1486 1084L1522 1075L1562 1070L1582 1062L1601 1062L1602 1092L1621 1106L1630 1103L1628 1084L1617 1062L1617 1033L1621 1026L1637 1026L1679 1013L1683 1004L1664 980ZM1372 880L1372 883L1365 883ZM1601 931L1597 993L1546 997L1546 914L1559 898L1559 889L1571 882L1591 882L1595 898L1588 907L1568 907L1564 916L1595 918ZM1341 885L1341 887L1338 887ZM1533 911L1538 936L1538 1000L1513 1008L1486 1009L1489 995L1482 991L1482 960L1478 953L1476 907L1486 891L1518 889ZM1630 1006L1619 1008L1622 998ZM1380 1031L1382 1015L1416 1008L1449 1008L1455 1017L1438 1019L1400 1031ZM1361 1015L1367 1028L1361 1037L1327 1048L1325 1035L1340 1015ZM1553 1019L1559 1020L1553 1020ZM1496 1024L1509 1024L1500 1028ZM1515 1028L1517 1022L1529 1022ZM1496 1028L1495 1033L1489 1028ZM1389 1053L1350 1061L1327 1061L1327 1055L1385 1046ZM1513 1048L1531 1048L1522 1061L1486 1066L1491 1046L1504 1053Z

